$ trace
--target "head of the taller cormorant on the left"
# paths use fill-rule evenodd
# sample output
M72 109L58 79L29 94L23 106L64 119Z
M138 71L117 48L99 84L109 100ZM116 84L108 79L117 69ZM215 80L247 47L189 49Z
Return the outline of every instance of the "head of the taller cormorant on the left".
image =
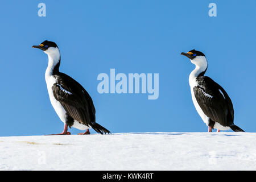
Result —
M32 46L32 48L38 48L44 51L47 55L59 54L59 48L55 42L45 40L39 46Z

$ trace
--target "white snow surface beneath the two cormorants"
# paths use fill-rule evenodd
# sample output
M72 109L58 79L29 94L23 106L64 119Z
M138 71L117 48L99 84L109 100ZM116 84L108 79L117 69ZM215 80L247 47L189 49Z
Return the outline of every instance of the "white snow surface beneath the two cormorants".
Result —
M256 170L256 133L0 137L0 170Z

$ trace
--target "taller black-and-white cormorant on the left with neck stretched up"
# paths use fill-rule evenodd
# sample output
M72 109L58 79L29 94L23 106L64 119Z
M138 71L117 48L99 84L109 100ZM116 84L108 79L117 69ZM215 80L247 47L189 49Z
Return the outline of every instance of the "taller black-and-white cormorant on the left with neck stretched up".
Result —
M80 135L90 134L90 127L97 133L109 134L109 130L96 123L95 108L88 92L79 82L59 72L60 51L56 43L46 40L39 46L32 47L39 48L48 55L45 77L49 98L60 120L64 122L63 132L54 135L70 135L68 126L86 130Z

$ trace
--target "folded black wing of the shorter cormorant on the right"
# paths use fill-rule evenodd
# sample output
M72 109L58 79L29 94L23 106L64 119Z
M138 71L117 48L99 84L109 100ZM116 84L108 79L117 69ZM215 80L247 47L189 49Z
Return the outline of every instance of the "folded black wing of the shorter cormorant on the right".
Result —
M234 120L232 101L225 90L206 76L197 77L197 86L193 88L196 101L212 121L229 126Z

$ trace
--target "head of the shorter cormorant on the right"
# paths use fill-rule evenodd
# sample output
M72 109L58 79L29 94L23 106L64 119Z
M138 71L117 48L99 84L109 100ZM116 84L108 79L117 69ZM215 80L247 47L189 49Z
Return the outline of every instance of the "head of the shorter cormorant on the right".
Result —
M196 51L195 49L188 51L187 53L181 52L181 55L187 56L191 63L201 66L201 65L207 65L207 59L203 52Z

